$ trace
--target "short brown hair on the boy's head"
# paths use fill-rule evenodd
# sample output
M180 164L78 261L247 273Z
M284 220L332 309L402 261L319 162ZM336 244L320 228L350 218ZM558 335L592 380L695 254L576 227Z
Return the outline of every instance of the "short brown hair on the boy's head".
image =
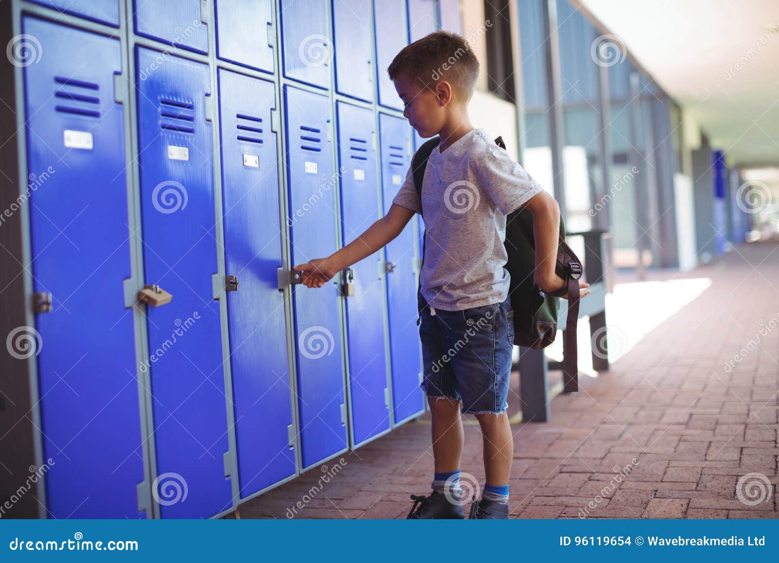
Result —
M446 80L464 102L471 100L479 76L479 62L464 37L449 31L435 31L407 45L387 67L393 80L404 75L420 86Z

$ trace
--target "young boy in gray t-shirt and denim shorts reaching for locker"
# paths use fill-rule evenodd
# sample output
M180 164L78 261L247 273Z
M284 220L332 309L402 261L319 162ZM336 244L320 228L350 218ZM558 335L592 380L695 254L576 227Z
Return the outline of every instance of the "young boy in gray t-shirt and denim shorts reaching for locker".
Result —
M479 63L463 37L431 33L400 51L387 72L411 126L423 138L441 139L425 168L421 201L410 167L386 216L329 257L294 269L304 272L306 287L322 287L392 241L424 206L419 335L435 473L432 494L412 495L408 517L464 518L467 499L460 498L459 486L462 403L462 412L474 414L481 426L487 477L470 517L504 519L513 459L506 398L514 333L509 273L503 267L506 215L520 206L533 213L535 282L552 292L564 285L555 274L559 206L492 137L471 125L467 104ZM580 283L580 297L589 293L587 287Z

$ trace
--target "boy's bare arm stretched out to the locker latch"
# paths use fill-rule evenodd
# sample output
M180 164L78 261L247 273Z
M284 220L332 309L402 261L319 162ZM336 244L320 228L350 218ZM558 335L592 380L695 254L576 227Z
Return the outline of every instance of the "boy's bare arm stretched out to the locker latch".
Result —
M312 259L292 269L303 272L302 283L306 287L322 287L340 270L372 255L396 238L414 216L412 209L397 204L390 206L385 216L373 223L358 238L327 258Z

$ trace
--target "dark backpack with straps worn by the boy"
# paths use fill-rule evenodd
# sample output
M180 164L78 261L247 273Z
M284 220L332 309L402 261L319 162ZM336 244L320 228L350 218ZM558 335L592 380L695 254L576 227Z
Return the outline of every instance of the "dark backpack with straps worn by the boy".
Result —
M440 137L434 137L419 147L411 161L414 174L414 185L422 199L422 180L425 178L425 167L430 153L439 145ZM495 139L503 150L506 145L502 137ZM424 211L424 209L423 209ZM424 213L423 213L424 220ZM576 363L576 322L579 317L579 278L582 275L580 259L564 240L566 227L560 218L559 248L555 272L566 280L566 286L553 293L543 292L534 280L535 242L533 233L533 213L524 206L506 216L506 254L508 260L506 269L509 271L509 297L514 310L514 344L535 350L548 347L557 336L557 313L560 296L569 292L568 318L566 320L566 360L563 365L563 391L579 390L578 368ZM422 239L422 261L425 264L425 241ZM420 267L421 273L421 267ZM420 276L421 277L421 276ZM417 289L419 315L425 308L425 300L421 296L421 280Z

